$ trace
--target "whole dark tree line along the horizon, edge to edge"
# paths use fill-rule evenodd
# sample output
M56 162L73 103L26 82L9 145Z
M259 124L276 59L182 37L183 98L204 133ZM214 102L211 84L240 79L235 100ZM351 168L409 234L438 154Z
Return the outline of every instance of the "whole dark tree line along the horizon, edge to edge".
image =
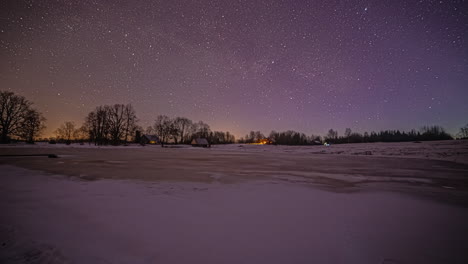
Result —
M20 139L29 143L40 136L46 119L25 97L9 91L0 91L0 143ZM55 131L56 141L64 143L89 142L95 145L139 143L144 134L157 135L160 143L189 144L194 138L206 138L211 144L258 143L268 139L268 143L279 145L314 145L363 142L404 142L426 140L449 140L453 137L440 126L424 126L419 131L409 132L385 130L380 132L352 132L347 128L343 136L330 129L325 137L306 135L288 130L271 131L266 137L260 131L251 131L236 141L229 132L212 131L203 121L194 122L186 117L158 115L153 125L143 129L138 125L135 109L131 104L102 105L85 117L81 126L64 122ZM468 124L457 134L460 139L468 139Z

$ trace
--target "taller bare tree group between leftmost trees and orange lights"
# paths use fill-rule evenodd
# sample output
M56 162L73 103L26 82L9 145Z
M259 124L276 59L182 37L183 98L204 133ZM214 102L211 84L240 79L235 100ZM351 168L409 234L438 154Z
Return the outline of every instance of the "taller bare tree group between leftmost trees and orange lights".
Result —
M229 132L211 131L203 121L193 122L185 117L158 115L146 129L137 125L138 118L131 104L103 105L90 112L81 127L73 122L63 123L56 131L54 143L89 142L95 145L140 143L143 135L156 135L161 146L190 144L195 138L206 138L210 144L235 143Z

